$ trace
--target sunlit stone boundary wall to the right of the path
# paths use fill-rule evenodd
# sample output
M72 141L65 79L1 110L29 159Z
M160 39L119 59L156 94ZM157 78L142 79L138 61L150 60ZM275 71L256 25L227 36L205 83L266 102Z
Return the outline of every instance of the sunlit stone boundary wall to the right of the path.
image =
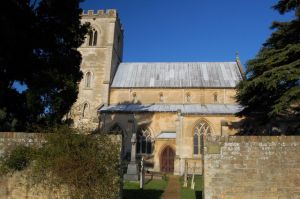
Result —
M205 199L299 199L300 136L209 137Z

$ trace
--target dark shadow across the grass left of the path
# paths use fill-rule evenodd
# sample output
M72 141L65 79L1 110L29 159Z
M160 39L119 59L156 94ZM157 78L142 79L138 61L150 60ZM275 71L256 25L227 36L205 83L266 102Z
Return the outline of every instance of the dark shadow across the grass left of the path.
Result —
M162 190L127 189L123 190L123 199L159 199L162 194Z

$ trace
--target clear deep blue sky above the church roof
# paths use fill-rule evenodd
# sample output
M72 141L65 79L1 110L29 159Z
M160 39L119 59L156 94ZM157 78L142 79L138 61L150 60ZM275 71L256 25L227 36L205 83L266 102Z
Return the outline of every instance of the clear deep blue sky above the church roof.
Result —
M86 0L84 10L117 9L124 62L233 61L253 58L269 37L276 0Z

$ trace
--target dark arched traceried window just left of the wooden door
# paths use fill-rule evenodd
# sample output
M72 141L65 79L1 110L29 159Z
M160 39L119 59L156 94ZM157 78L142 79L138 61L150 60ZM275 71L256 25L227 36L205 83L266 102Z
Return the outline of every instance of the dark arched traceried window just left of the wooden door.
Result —
M137 153L138 154L151 154L152 153L152 141L151 134L148 129L141 129L137 136Z

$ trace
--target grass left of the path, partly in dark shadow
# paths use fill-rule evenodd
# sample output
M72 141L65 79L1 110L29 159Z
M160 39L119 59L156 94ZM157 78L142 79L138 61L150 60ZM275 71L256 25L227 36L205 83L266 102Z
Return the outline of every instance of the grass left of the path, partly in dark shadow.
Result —
M167 180L151 180L146 182L144 189L140 189L138 182L124 182L124 199L159 199L161 198L166 186Z

